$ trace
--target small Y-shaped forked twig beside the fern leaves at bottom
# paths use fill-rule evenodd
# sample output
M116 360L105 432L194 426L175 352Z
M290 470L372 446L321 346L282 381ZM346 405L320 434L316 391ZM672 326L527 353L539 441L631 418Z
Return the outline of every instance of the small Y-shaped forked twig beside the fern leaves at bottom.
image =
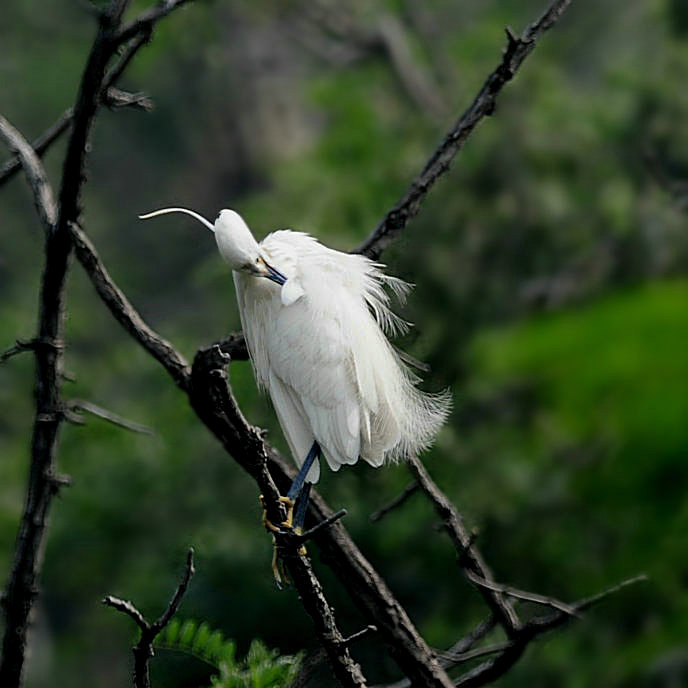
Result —
M118 597L107 595L103 598L103 604L113 609L130 616L136 625L141 630L141 636L138 643L133 648L134 652L134 688L150 688L150 676L148 665L151 657L153 657L153 642L158 634L172 621L172 618L177 613L179 605L186 594L189 587L189 582L194 575L193 562L193 547L189 548L189 553L186 555L186 566L184 573L179 581L179 585L175 590L174 596L167 605L167 609L162 616L153 623L148 623L143 614L131 603L126 600L120 600Z

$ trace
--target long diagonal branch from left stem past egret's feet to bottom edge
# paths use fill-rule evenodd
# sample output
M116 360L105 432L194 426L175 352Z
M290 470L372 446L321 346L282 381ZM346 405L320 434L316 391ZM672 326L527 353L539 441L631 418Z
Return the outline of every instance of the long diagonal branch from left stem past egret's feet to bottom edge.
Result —
M107 273L84 233L73 225L72 234L77 258L111 313L163 365L177 385L187 391L201 420L256 480L266 499L268 517L279 523L284 519L284 513L279 507L279 490L271 476L286 490L294 477L294 470L277 452L266 448L260 431L246 422L232 397L225 371L229 359L223 349L234 350L235 345L238 346L238 338L232 337L201 350L196 356L193 378L190 378L181 355L143 322ZM311 503L316 520L325 520L333 515L319 495L314 494ZM404 609L341 524L321 531L316 541L322 550L327 551L333 570L366 617L378 625L402 670L414 677L419 685L443 688L451 685Z

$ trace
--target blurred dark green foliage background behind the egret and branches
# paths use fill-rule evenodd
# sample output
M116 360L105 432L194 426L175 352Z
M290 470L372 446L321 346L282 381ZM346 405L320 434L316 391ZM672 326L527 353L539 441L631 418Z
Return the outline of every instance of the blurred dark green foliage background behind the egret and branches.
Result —
M135 4L141 7L143 3ZM86 2L7 0L0 110L32 138L69 105L94 21ZM324 9L323 9L324 8ZM542 0L196 2L160 24L121 87L150 114L103 111L84 226L144 317L187 356L238 329L231 275L185 205L239 210L262 237L292 227L348 250L401 195L497 64L503 28ZM383 257L417 285L401 344L455 410L425 462L498 580L573 600L646 572L530 648L499 685L688 685L688 4L574 3ZM64 142L46 156L59 179ZM17 176L0 190L0 347L35 328L42 235ZM114 322L80 267L69 277L70 397L144 423L64 427L29 688L127 685L129 619L158 613L186 548L198 572L181 616L237 641L312 650L293 591L278 593L253 483L159 366ZM248 363L247 417L285 449ZM0 576L28 470L30 355L0 368ZM324 472L329 503L433 646L484 617L403 466ZM317 563L345 632L363 620ZM375 641L373 681L396 668ZM207 684L202 662L159 652L154 685ZM327 672L318 685L327 685Z

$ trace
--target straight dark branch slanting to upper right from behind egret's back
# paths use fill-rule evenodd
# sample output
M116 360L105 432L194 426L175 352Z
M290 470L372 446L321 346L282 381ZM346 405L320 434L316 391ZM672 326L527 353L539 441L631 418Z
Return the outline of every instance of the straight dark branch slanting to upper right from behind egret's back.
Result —
M377 259L404 227L416 216L421 203L435 182L451 165L476 125L494 112L497 96L518 71L523 61L535 48L545 31L550 29L571 0L556 0L538 21L531 24L516 38L508 32L508 44L502 60L487 78L469 108L449 130L437 150L432 154L418 176L398 203L382 219L375 231L356 249L369 258Z

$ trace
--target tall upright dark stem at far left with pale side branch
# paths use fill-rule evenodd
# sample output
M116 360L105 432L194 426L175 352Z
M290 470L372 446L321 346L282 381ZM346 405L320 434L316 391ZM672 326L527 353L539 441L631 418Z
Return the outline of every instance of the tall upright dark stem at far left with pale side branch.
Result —
M88 140L100 104L106 70L118 45L115 36L127 4L128 0L111 0L107 11L101 15L73 111L57 208L35 151L6 120L0 122L2 138L19 154L46 229L45 267L41 280L38 336L35 340L41 346L34 347L36 413L31 465L24 511L4 597L5 630L0 659L0 685L3 688L20 688L23 682L29 618L38 594L50 506L63 484L56 475L56 460L59 428L64 420L65 408L61 400L62 339L65 284L72 249L70 228L78 222L81 212L80 196L85 179Z

